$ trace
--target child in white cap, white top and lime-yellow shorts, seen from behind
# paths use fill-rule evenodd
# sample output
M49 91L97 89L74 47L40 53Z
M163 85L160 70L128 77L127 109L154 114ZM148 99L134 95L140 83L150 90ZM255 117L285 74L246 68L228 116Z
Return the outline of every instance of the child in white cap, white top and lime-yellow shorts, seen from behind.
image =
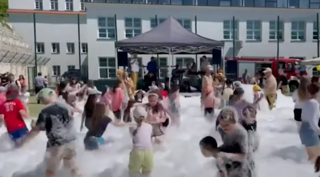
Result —
M133 117L137 123L136 128L131 128L132 151L129 157L130 177L145 176L151 174L153 168L152 152L152 126L145 123L147 111L144 107L138 106L133 110Z

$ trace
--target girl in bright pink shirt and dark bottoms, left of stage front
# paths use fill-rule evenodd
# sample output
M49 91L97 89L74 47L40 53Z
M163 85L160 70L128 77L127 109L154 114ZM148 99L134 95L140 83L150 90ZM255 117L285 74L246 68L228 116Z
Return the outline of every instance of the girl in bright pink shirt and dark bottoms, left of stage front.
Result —
M124 103L124 93L120 88L122 81L116 80L116 85L106 94L110 100L110 109L113 112L116 122L121 121L121 111Z

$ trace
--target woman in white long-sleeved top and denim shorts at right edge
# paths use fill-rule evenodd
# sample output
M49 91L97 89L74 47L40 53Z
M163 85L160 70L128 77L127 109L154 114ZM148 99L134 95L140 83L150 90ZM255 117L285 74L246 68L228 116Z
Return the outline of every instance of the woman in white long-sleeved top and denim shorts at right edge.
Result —
M308 160L315 161L320 155L320 128L318 126L320 117L320 105L316 100L316 96L320 90L318 84L310 84L307 86L307 99L304 101L301 111L301 127L299 136L301 143L305 145Z

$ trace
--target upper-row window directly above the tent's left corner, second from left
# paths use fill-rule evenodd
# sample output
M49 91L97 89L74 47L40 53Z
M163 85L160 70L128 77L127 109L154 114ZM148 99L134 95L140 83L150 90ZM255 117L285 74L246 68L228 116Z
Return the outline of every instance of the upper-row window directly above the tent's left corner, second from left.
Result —
M131 38L141 34L141 19L140 18L125 18L125 37Z

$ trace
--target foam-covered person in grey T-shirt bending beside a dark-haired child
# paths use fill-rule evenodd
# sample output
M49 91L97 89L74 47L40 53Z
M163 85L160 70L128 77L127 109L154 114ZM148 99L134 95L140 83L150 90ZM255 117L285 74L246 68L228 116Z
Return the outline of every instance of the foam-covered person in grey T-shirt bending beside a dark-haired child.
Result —
M224 152L217 154L219 177L256 177L253 161L253 149L250 148L248 133L238 124L236 110L226 107L217 117L220 125L218 131L223 144L219 149Z

